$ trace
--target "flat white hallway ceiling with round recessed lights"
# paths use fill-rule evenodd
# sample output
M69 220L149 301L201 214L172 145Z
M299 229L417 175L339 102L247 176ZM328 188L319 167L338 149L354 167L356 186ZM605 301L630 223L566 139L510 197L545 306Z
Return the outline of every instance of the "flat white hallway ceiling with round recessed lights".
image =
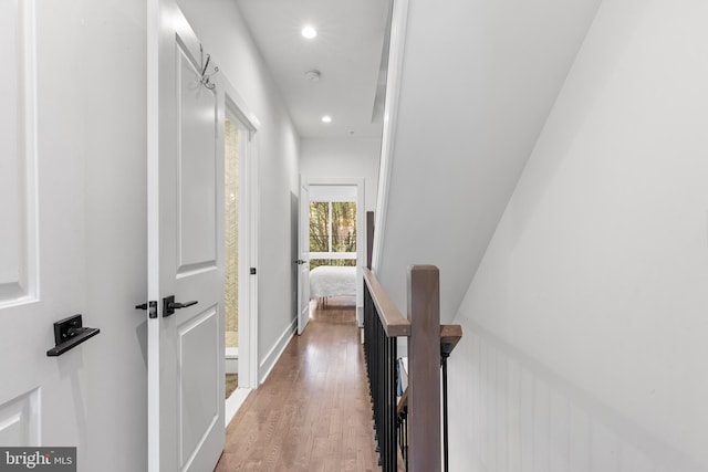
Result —
M381 136L372 116L391 0L236 1L301 137Z

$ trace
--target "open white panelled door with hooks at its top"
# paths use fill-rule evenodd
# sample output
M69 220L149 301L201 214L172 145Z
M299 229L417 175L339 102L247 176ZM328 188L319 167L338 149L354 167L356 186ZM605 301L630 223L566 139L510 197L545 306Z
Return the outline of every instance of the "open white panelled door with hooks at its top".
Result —
M223 107L174 1L148 14L149 471L201 472L225 443Z

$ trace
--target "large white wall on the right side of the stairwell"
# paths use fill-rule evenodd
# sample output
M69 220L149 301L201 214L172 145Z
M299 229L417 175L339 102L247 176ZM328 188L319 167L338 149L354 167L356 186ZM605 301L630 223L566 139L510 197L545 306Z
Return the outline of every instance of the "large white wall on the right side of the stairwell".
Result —
M600 8L456 317L451 470L708 470L706 18Z

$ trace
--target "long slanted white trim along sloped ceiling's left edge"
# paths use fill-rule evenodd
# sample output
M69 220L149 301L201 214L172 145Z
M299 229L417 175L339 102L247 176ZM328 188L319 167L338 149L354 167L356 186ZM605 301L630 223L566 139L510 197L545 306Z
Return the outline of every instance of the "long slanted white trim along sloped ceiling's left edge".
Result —
M406 43L406 25L408 23L408 0L394 0L391 20L391 45L388 49L388 73L386 81L386 103L384 106L384 130L381 145L381 168L378 170L378 195L372 269L381 264L381 251L384 243L386 211L388 209L388 186L391 185L392 160L396 141L398 122L398 101L400 95L400 77L403 76L404 46Z

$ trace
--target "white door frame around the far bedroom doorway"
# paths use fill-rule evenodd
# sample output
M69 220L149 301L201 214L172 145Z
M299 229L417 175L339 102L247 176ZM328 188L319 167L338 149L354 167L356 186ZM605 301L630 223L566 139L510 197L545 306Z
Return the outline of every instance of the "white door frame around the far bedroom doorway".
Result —
M312 186L352 186L356 187L356 280L364 277L366 264L366 199L365 179L355 177L309 177L308 187ZM364 306L364 286L356 284L356 323L364 325L362 308Z

